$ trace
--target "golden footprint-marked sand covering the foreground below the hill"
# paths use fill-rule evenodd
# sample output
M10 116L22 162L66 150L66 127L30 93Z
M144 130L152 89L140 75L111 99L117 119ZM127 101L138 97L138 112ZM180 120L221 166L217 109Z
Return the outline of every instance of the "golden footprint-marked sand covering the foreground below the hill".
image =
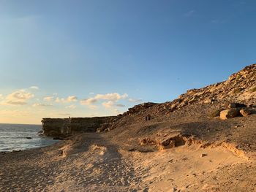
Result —
M224 145L124 148L105 134L83 134L39 150L1 154L0 191L256 190L255 159Z

